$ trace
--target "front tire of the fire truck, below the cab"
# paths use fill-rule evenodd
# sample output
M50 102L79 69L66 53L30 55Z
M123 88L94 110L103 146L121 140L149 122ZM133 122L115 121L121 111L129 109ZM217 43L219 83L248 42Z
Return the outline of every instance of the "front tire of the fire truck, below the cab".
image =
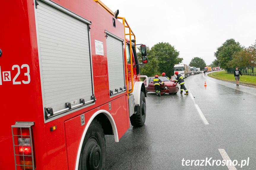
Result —
M143 126L146 120L146 99L142 91L140 92L140 106L135 106L134 111L137 113L130 117L131 124L134 127Z

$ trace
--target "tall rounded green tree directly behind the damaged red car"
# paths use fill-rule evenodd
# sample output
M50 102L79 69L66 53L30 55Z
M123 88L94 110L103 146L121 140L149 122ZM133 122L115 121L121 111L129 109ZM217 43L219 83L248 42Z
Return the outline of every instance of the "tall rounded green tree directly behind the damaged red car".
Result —
M158 59L158 73L165 72L167 76L174 75L174 64L182 62L183 58L179 58L179 52L169 43L158 43L152 48L156 59Z

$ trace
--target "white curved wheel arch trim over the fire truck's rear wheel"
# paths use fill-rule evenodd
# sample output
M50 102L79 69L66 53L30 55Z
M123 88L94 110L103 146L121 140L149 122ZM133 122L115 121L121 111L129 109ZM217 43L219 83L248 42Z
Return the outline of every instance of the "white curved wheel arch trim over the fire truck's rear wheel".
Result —
M117 127L116 127L116 124L115 124L115 121L112 117L112 115L106 111L106 110L98 110L96 111L93 116L91 116L91 118L89 119L88 123L86 124L86 127L84 129L84 132L82 134L82 138L80 140L80 143L79 143L79 148L78 148L78 151L77 151L77 160L76 160L76 166L75 166L75 170L78 170L78 165L79 165L79 158L80 158L80 153L81 153L81 150L82 150L82 145L83 145L83 142L84 142L84 139L85 139L85 134L91 124L91 122L93 121L93 119L100 113L103 113L107 116L107 118L109 119L111 125L112 125L112 128L113 128L113 132L114 132L114 137L115 137L115 142L119 142L119 139L118 139L118 133L117 133Z

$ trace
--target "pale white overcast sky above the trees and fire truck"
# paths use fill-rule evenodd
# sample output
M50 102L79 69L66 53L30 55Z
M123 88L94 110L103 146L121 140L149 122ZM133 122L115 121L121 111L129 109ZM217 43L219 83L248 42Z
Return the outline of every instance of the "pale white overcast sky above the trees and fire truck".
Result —
M183 64L199 57L207 65L214 52L233 38L249 47L256 40L256 0L101 0L125 17L137 44L166 42Z

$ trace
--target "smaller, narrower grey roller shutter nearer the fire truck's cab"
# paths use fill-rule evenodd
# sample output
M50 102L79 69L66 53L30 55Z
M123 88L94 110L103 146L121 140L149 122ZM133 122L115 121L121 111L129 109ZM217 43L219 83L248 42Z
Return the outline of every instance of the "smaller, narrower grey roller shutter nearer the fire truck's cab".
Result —
M125 92L125 72L123 56L123 39L106 32L109 91L120 94ZM122 91L121 91L122 90ZM110 94L110 93L109 93ZM113 95L110 95L112 97Z

